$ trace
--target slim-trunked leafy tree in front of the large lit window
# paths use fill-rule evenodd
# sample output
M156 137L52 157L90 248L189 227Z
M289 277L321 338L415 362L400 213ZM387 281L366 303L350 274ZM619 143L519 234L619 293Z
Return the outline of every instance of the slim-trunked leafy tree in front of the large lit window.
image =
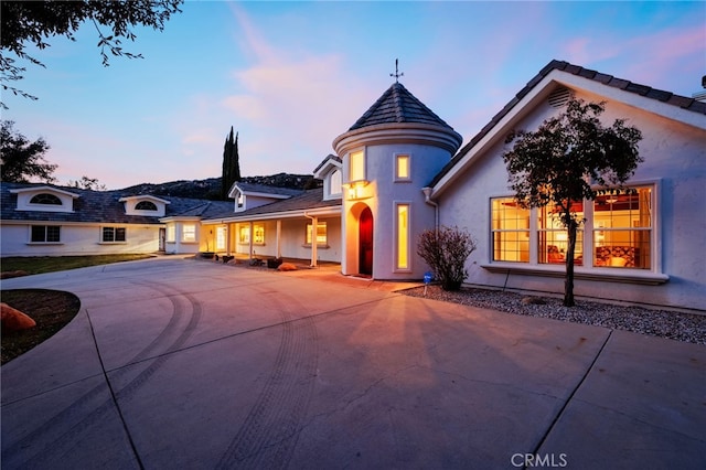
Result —
M552 205L567 229L564 305L574 301L576 233L584 220L571 212L571 202L595 200L605 191L630 191L624 183L643 161L638 142L642 132L616 119L603 127L599 116L605 103L571 98L566 110L546 119L534 131L516 130L503 153L517 203L525 209Z

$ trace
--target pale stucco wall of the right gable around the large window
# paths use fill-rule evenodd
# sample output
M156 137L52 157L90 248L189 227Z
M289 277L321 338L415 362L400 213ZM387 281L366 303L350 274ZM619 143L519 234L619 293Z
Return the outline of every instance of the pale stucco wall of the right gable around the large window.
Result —
M579 94L578 97L599 99L591 95ZM554 108L544 105L525 117L516 128L534 130L553 113L556 113ZM575 293L706 310L706 130L609 102L607 111L602 115L603 122L611 124L618 117L629 118L629 124L643 132L640 153L645 161L631 182L654 183L656 190L653 211L656 258L646 275L666 275L668 281L662 285L640 285L616 279L577 279ZM502 140L491 146L457 183L440 194L440 222L467 226L479 241L478 250L467 263L469 284L560 293L564 291L560 277L493 274L482 267L492 265L490 197L513 195L507 189L507 173L502 161L505 148ZM541 268L550 269L546 266ZM563 266L554 269L563 271ZM590 266L577 267L576 270L577 274L601 271ZM617 271L613 268L610 273Z

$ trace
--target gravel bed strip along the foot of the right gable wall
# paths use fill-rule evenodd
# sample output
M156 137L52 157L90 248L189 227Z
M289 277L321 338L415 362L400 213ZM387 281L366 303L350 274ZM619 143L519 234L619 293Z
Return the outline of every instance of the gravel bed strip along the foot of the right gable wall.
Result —
M424 287L408 289L402 293L425 297ZM506 313L552 318L668 338L676 341L706 344L706 314L652 310L584 300L577 300L576 307L568 308L561 305L561 299L553 297L526 296L516 292L472 288L447 292L439 286L434 285L428 287L426 297Z

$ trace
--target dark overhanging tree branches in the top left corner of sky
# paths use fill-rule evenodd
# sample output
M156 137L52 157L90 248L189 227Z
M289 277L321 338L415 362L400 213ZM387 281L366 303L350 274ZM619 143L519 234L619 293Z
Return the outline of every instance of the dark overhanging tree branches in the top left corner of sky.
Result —
M22 92L9 83L22 79L25 67L17 65L17 58L44 66L39 60L30 56L24 47L33 44L45 49L50 36L63 35L75 41L74 33L82 23L92 22L98 33L98 47L103 65L109 65L107 51L114 56L128 58L142 57L122 49L121 40L135 41L137 38L131 26L151 26L162 31L164 22L173 13L181 12L179 6L183 0L132 0L132 1L1 1L0 17L0 82L2 89L26 98L35 96ZM101 26L108 26L110 33L104 33ZM0 106L7 108L0 103Z

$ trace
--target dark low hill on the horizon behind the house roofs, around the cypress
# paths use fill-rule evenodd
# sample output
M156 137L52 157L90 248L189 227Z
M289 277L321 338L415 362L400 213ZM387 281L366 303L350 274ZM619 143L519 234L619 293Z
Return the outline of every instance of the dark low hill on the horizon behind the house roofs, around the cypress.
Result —
M291 188L297 190L308 190L321 186L321 180L317 180L311 174L278 173L269 177L245 177L242 180L252 184L267 184L276 188ZM179 180L167 183L142 183L120 190L132 195L152 194L169 195L175 197L193 197L218 200L221 194L221 178L208 178L205 180Z

